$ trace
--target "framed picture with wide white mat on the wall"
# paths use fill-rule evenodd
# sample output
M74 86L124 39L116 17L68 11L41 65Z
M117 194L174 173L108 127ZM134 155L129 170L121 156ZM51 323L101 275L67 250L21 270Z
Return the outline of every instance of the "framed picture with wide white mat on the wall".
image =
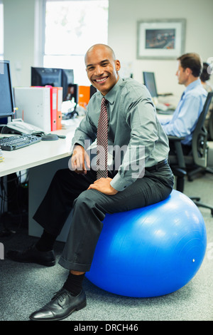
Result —
M175 59L184 53L185 19L137 22L138 59Z

